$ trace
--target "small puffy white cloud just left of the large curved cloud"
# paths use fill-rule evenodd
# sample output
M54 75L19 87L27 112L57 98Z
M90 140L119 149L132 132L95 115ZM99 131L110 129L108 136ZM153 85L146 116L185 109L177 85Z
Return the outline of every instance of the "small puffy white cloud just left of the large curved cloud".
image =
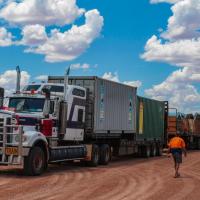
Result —
M21 44L28 46L37 46L47 41L45 27L39 24L27 25L22 29L23 39Z

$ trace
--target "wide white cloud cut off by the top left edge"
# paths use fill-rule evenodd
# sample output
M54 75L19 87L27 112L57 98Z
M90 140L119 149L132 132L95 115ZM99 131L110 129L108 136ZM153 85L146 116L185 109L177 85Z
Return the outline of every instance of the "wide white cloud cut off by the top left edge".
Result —
M83 13L76 0L13 0L0 10L0 18L17 25L66 25Z

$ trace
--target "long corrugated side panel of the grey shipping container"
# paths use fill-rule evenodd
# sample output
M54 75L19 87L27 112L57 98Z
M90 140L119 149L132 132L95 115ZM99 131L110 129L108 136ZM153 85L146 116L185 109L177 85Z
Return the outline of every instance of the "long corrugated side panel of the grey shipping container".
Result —
M94 132L136 132L136 88L97 78Z

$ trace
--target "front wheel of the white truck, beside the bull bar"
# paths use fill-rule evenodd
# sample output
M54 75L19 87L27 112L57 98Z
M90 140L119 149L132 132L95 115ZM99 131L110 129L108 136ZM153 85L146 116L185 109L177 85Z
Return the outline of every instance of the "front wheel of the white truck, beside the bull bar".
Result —
M24 158L24 172L26 175L37 176L45 169L45 155L40 147L33 147L28 157Z

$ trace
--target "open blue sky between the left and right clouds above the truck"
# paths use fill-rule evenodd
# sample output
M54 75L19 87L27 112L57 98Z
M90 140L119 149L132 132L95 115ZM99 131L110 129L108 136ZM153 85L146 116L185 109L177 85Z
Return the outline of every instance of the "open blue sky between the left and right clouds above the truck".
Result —
M71 63L98 65L93 70L72 71L73 75L98 75L117 72L120 80L141 80L144 88L162 81L173 70L172 67L145 62L140 58L148 38L158 28L166 27L170 12L168 4L152 5L148 0L84 0L78 1L79 7L87 10L97 8L104 17L104 26L99 38L80 57L62 63L47 63L43 55L24 53L24 47L0 48L0 72L19 65L32 77L40 74L62 75ZM75 23L81 23L77 20ZM16 32L16 29L14 30ZM17 35L19 31L17 32ZM155 73L156 72L156 73Z

